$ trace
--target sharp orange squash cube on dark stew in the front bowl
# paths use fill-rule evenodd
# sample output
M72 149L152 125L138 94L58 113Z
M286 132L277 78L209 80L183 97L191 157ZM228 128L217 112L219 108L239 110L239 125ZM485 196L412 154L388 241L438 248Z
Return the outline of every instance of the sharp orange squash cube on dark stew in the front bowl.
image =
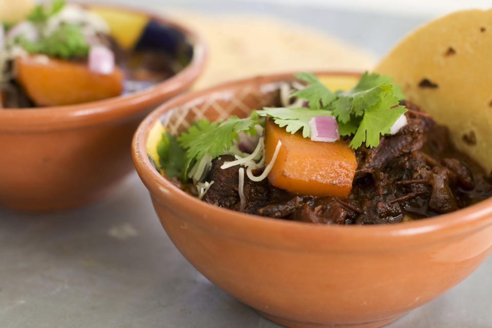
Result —
M345 197L352 189L357 161L352 148L342 141L319 142L291 134L272 119L265 121L265 165L278 141L282 146L268 175L273 186L313 196Z

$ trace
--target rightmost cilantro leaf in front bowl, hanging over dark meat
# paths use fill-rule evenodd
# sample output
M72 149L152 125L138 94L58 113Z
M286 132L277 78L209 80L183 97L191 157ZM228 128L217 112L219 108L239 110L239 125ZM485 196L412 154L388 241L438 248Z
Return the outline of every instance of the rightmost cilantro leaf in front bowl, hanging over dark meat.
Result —
M398 106L398 101L399 97L394 92L383 92L381 101L364 112L350 146L357 149L364 141L367 147L378 146L379 135L389 134L396 120L407 111L405 107ZM398 107L392 108L394 106Z

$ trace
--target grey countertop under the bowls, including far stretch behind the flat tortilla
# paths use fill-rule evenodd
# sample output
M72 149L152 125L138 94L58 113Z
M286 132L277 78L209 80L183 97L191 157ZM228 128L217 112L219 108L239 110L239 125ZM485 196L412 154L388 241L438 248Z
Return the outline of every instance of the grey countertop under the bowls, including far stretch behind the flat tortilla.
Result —
M140 4L152 8L163 2ZM329 31L378 55L428 19L261 2L167 4L272 14ZM489 257L454 289L388 327L492 327L491 272ZM279 327L218 289L178 253L135 173L116 193L85 208L53 214L0 209L0 327L233 326Z

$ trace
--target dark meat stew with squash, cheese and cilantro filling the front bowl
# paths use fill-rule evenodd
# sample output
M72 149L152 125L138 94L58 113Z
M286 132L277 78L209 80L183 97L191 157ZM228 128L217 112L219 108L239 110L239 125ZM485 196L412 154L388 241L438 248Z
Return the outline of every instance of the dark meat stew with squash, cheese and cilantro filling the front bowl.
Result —
M332 92L297 77L305 84L280 86L282 107L164 133L149 152L156 167L217 206L316 223L407 221L492 196L480 165L391 78L365 73Z

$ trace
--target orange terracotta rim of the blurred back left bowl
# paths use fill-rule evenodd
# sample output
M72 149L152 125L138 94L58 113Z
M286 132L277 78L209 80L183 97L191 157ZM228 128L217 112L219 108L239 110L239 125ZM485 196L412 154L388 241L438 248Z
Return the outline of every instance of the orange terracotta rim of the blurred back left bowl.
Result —
M193 29L176 22L165 14L111 3L71 3L86 7L94 6L130 11L171 26L183 33L190 41L193 47L191 61L185 68L170 78L144 90L126 95L75 105L0 109L0 132L70 129L137 114L142 107L148 108L155 105L162 97L185 91L203 71L208 55L204 38Z

